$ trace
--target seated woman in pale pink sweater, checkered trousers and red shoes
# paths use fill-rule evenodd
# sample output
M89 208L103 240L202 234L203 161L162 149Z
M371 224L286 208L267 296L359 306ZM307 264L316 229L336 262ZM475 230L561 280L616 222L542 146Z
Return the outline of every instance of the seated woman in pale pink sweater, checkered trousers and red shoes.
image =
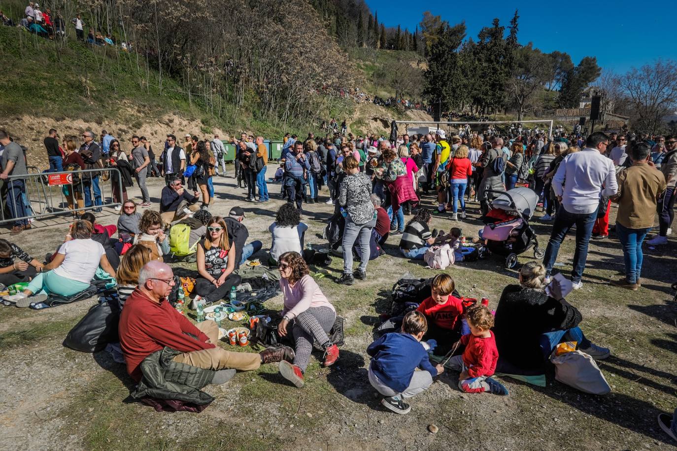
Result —
M278 270L280 289L284 295L283 318L278 325L278 333L285 337L291 332L296 342L294 364L280 362L280 373L300 388L303 387L303 372L308 366L314 342L320 343L324 349L324 366L334 364L339 358L339 347L328 337L336 321L336 309L308 275L308 265L299 253L280 255Z

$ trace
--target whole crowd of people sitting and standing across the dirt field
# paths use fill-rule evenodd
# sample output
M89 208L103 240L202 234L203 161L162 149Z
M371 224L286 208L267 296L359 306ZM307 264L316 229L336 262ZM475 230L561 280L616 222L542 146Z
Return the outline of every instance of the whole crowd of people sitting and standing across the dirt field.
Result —
M272 244L264 261L279 270L284 309L278 333L292 337L293 345L259 354L233 353L217 344L214 322L196 326L166 301L177 283L168 263L194 261L194 305L218 304L233 288L242 288L238 268L263 247L261 240L250 240L244 209L233 207L223 217L210 211L215 194L212 179L226 176L227 150L219 135L203 139L186 134L184 138L179 144L175 135L167 134L156 158L143 136L133 135L123 150L106 130L98 140L92 131L83 132L81 139L60 140L58 131L50 129L44 140L47 171L114 167L119 177L135 179L141 203L127 196L126 184L122 191L112 190L120 216L116 225L102 226L95 217L106 200L99 189L101 176L82 177L83 189L63 187L77 217L64 243L47 261L0 240L0 282L28 283L16 295L5 296L5 303L28 307L49 295L77 295L97 272L116 280L119 346L136 381L141 379L141 362L166 347L175 350L172 362L208 371L212 383L231 379L235 370L276 363L282 377L302 387L313 346L322 349L325 366L339 359L339 347L330 338L336 308L311 277L313 257L305 245L309 225L301 221L303 210L320 202L322 193L326 193L324 203L334 208L325 234L334 255L343 257L343 273L336 282L347 285L368 278L368 262L385 254L382 246L391 236L399 239L403 258L423 259L443 239L453 244L452 259L463 261L473 249L465 246L460 228L452 228L448 235L431 231L431 218L448 214L450 221L462 222L473 213L486 217L502 192L533 190L546 213L541 220L552 221L542 262L531 261L519 269L519 283L506 286L494 314L458 295L452 276L437 274L429 282L429 295L417 299L418 307L393 318L395 329L368 347L372 357L368 380L383 395L383 406L401 414L410 411L406 399L427 389L445 370L459 373L462 391L506 395L508 389L493 378L497 371L543 372L550 354L564 341L576 341L577 349L594 359L609 357L609 349L586 339L580 312L563 296L546 290L554 278L561 242L575 228L571 288L581 288L589 240L608 239L614 202L615 235L625 274L611 283L636 291L642 285L642 243L653 228L655 213L659 233L650 241L654 246L667 243L674 218L677 138L673 135L597 132L587 137L564 133L529 137L470 131L447 137L441 129L427 135L403 134L392 141L341 131L324 137L309 133L305 139L287 135L280 167L267 179L267 165L272 162L263 137L242 133L240 139L226 140L236 148L232 176L238 186L246 187L244 200L268 202L273 186L280 188L273 195L286 199L269 225ZM0 146L0 179L11 177L5 196L16 217L12 233L18 234L30 228L25 222L30 215L21 200L23 181L16 177L26 173L25 156L6 131L0 131ZM156 209L147 177L165 177ZM420 205L426 197L436 208ZM479 203L477 210L468 200ZM87 207L91 211L83 213ZM359 260L356 268L354 259ZM523 343L519 348L513 345L515 337ZM431 341L445 352L462 351L440 363L422 345Z

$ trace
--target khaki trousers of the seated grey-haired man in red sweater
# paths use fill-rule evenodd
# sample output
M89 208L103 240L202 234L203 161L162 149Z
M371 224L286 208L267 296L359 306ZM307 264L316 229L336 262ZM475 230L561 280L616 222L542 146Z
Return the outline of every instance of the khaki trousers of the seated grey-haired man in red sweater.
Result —
M197 366L205 370L223 370L235 368L236 370L249 371L261 366L261 356L255 352L232 352L226 351L219 346L219 326L212 320L206 320L196 324L200 332L209 337L207 343L213 343L216 347L191 351L179 354L174 358L175 362Z

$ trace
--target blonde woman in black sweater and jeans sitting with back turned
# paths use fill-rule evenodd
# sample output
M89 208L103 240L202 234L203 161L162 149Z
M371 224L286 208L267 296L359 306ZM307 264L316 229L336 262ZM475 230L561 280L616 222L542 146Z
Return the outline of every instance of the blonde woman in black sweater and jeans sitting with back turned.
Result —
M597 360L611 355L586 339L578 326L581 313L564 299L544 291L545 267L530 261L519 270L519 285L508 285L496 307L494 334L502 372L542 372L550 353L563 341L576 341L578 349Z

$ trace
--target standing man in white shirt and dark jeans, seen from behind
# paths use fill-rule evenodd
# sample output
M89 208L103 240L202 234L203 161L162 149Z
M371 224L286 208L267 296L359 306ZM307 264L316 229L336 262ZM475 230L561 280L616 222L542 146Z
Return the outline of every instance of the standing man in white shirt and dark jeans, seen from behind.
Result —
M571 282L575 290L583 286L581 278L588 258L588 242L597 218L600 196L611 197L618 190L613 162L604 156L607 146L609 137L605 133L592 133L586 140L586 148L567 155L552 178L552 189L561 206L552 225L552 234L543 257L546 282L550 279L559 246L575 224L576 250L573 254Z

